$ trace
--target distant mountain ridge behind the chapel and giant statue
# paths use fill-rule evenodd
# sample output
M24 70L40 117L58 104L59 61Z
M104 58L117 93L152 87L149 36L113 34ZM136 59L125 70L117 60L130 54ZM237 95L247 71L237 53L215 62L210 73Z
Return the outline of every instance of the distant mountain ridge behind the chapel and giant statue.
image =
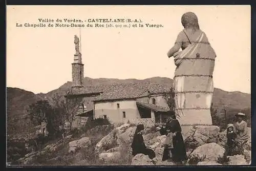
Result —
M138 79L113 79L113 78L84 78L84 86L90 89L97 90L111 90L113 84L142 84L143 83L157 83L165 87L172 87L173 80L165 77L153 77L143 80ZM56 90L50 91L46 94L34 94L26 90L18 88L7 88L7 116L8 116L8 134L25 134L32 128L29 126L29 119L26 119L26 108L29 104L36 102L39 99L46 99L50 102L55 93L64 95L71 87L72 82L68 81ZM214 107L216 108L230 108L230 109L246 109L250 108L251 95L241 92L226 92L221 89L215 89L214 97L212 99Z

